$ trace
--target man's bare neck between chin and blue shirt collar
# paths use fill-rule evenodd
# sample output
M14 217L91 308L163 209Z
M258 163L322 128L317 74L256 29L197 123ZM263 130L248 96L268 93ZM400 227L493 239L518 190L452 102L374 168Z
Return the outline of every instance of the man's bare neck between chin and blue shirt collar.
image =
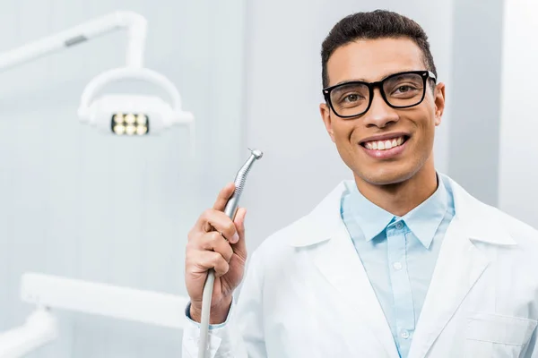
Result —
M433 161L429 160L421 170L401 183L375 185L357 178L355 182L359 192L379 208L403 217L437 190L437 174Z

